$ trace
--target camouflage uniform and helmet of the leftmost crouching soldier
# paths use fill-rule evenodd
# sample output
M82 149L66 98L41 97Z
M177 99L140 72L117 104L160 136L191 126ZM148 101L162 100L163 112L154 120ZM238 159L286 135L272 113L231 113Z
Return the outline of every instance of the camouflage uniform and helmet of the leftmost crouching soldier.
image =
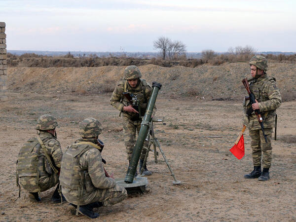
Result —
M48 119L54 119L55 122L51 123ZM47 121L47 128L42 128L40 121ZM54 129L56 126L55 118L50 115L40 116L37 122L38 130ZM54 167L59 169L63 156L59 141L57 141L55 136L46 131L40 131L39 137L45 145L47 154L54 164ZM32 153L36 153L38 156L36 166L30 166L30 164L26 165L28 163L23 159L24 148L29 148L32 150ZM35 167L37 167L37 169L34 169ZM29 192L42 192L58 184L59 175L54 173L53 169L50 167L37 138L29 139L23 148L21 148L17 162L17 176L18 183Z

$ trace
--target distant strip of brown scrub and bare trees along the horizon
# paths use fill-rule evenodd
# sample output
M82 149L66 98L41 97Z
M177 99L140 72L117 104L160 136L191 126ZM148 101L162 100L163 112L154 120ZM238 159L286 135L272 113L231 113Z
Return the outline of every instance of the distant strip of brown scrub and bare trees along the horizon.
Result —
M158 39L159 40L159 39ZM162 40L165 40L162 39ZM165 40L166 41L166 40ZM170 42L170 41L169 41ZM175 46L165 48L160 58L141 59L110 54L107 57L98 57L95 54L74 57L70 52L64 56L44 56L36 53L25 53L14 55L7 53L8 67L100 67L100 66L142 66L154 64L163 67L185 66L194 68L208 63L210 65L220 65L225 62L248 62L253 55L257 54L251 46L230 47L226 53L216 53L214 50L206 49L201 52L200 59L186 58L185 45L180 41L171 41ZM181 46L182 47L181 47ZM165 57L163 57L165 55ZM263 54L262 54L263 55ZM296 54L264 54L269 62L296 63ZM165 59L164 59L165 58Z

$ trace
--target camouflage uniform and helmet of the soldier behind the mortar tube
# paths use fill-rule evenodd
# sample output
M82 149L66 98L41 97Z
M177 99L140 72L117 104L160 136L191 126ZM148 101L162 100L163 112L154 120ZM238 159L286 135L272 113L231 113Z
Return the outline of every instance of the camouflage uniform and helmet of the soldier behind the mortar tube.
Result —
M137 70L138 73L133 73L134 70ZM126 73L127 72L127 73ZM151 86L142 79L142 75L139 69L136 66L129 66L125 69L125 80L121 80L117 83L116 88L114 89L110 104L115 109L119 110L123 113L123 135L124 135L124 144L126 147L127 152L127 159L130 160L132 157L132 153L134 150L135 142L136 142L136 132L139 134L141 123L142 123L142 116L145 114L147 109L148 101L150 99L150 95L152 93ZM138 85L135 88L130 87L127 82L127 79L134 79L138 78ZM138 100L140 102L140 109L142 116L139 116L138 113L134 112L126 112L123 111L124 106L131 105L130 102L124 97L122 94L123 92L130 92L134 95L137 95ZM154 106L153 114L155 114L156 107ZM144 143L144 147L148 146L148 142ZM144 160L146 154L146 149L142 150L141 153L141 160Z

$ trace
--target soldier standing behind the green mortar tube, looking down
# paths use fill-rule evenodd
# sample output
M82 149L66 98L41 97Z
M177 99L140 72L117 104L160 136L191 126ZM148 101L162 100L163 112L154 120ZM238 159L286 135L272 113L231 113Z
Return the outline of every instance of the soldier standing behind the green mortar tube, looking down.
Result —
M136 142L136 132L140 131L142 117L147 109L147 104L152 93L151 86L141 78L142 74L138 67L128 66L124 70L124 80L119 81L115 87L110 104L112 107L123 113L123 134L124 144L127 151L127 159L131 160ZM156 111L154 107L153 113ZM144 146L148 146L146 141ZM140 157L140 169L143 167L143 174L146 176L152 173L143 166L146 149L143 149Z

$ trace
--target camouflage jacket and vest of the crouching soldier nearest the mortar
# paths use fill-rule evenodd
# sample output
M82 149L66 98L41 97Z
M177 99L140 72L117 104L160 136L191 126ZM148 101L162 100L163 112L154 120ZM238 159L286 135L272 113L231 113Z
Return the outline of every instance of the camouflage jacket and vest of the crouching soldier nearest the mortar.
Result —
M86 142L86 143L85 143ZM93 139L78 139L63 155L60 183L67 201L85 205L116 185L105 176L101 152Z

